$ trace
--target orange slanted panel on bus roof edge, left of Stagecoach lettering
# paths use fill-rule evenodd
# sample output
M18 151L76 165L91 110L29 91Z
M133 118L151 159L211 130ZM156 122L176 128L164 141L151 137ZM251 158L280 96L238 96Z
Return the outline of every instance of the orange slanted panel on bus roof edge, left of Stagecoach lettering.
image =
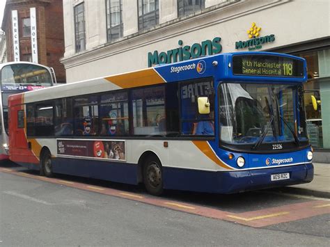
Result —
M165 83L164 79L159 76L153 68L131 73L118 74L111 77L106 77L105 79L116 84L120 88L134 88L137 86Z

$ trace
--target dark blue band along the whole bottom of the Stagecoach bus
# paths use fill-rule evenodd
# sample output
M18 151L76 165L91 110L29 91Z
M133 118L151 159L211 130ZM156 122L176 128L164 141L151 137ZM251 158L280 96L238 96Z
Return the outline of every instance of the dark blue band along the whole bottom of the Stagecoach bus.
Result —
M137 184L138 167L134 164L83 159L56 158L52 161L54 173L89 177L112 182ZM20 164L38 170L38 166ZM271 181L272 174L290 173L289 180ZM278 168L214 172L163 167L164 189L208 193L238 193L254 189L303 184L313 180L313 164Z

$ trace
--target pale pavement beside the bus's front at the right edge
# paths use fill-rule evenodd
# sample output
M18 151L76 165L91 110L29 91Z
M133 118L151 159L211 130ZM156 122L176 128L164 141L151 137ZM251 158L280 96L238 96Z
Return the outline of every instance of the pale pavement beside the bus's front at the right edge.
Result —
M314 179L308 184L297 184L285 187L290 193L298 193L306 196L330 198L330 164L313 163ZM283 191L283 192L288 192Z

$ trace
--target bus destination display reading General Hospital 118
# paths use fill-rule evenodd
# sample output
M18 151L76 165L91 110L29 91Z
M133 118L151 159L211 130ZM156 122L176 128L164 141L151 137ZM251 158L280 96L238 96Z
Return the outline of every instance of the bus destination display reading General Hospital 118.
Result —
M233 74L266 77L304 77L304 62L278 56L233 56Z

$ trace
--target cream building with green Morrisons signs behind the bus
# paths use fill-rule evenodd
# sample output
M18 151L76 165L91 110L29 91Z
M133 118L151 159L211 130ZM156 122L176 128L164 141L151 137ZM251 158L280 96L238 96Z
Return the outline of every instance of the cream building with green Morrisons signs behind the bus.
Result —
M308 130L330 163L329 1L65 0L63 9L68 82L220 52L306 58Z

